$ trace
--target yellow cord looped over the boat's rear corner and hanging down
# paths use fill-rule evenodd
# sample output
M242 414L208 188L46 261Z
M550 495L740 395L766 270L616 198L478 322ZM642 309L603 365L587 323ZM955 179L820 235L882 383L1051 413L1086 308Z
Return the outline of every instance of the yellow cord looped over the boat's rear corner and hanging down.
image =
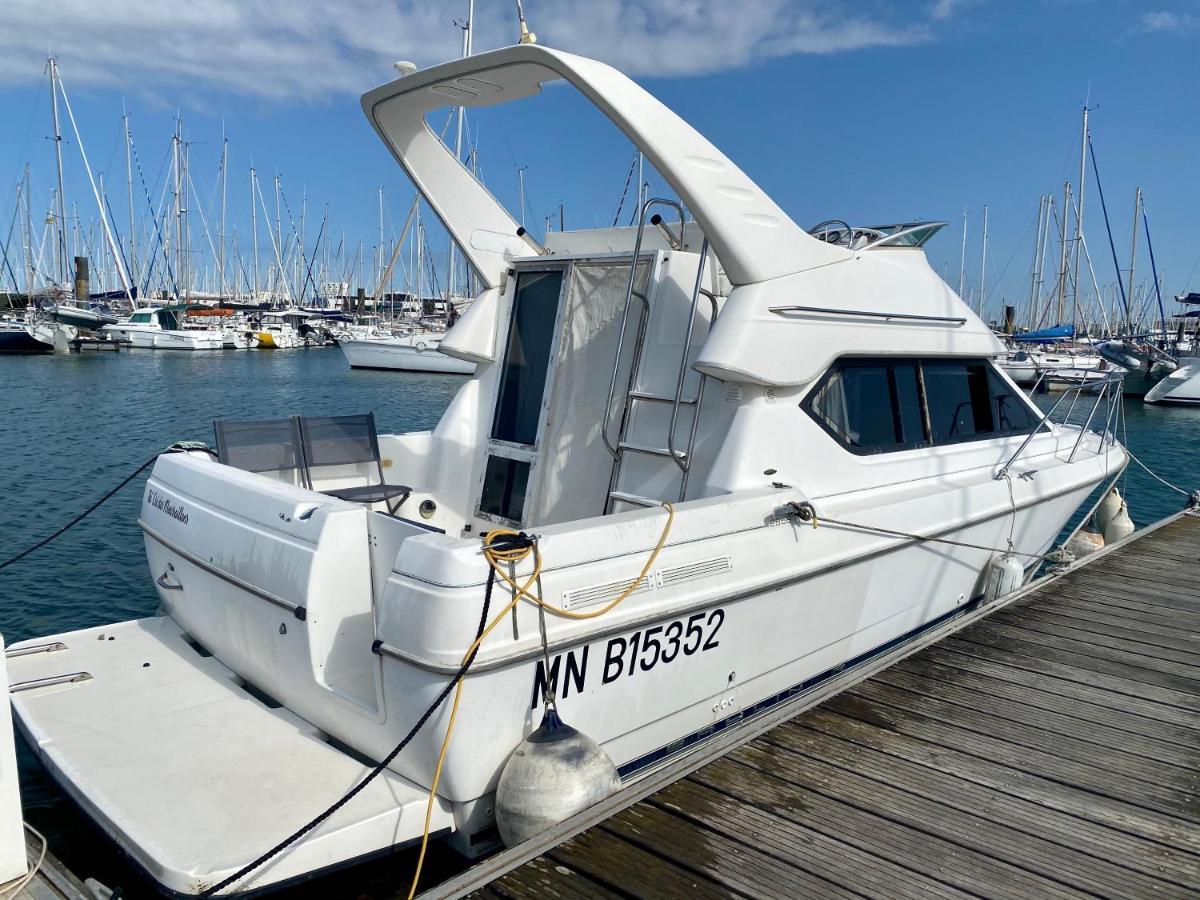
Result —
M667 535L671 534L671 526L674 523L674 505L664 500L662 506L667 511L667 521L662 526L662 534L659 535L659 542L654 545L654 550L646 560L646 565L642 566L642 571L638 572L637 577L634 578L629 587L626 587L614 600L611 600L599 610L593 610L590 612L571 612L558 606L551 606L544 602L539 595L529 593L529 588L532 588L541 576L541 551L538 550L536 542L514 550L499 550L492 546L492 541L500 536L516 535L518 532L515 532L511 528L496 528L488 532L487 536L484 539L484 557L487 559L487 564L492 566L492 570L511 587L512 599L496 614L496 618L487 624L487 628L485 628L479 637L475 638L474 643L467 648L467 652L462 656L463 664L470 659L470 655L479 649L480 644L484 643L484 638L492 634L492 629L500 624L500 622L509 614L509 612L511 612L522 598L535 602L538 606L554 613L556 616L563 616L569 619L594 619L629 599L629 596L637 589L637 586L642 583L642 580L650 571L650 568L654 565L654 560L659 558L659 553L662 552L662 547L667 542ZM500 564L509 563L511 565L516 565L524 562L530 553L533 554L533 574L523 586L517 584L516 581L511 578L506 571L504 571ZM408 900L413 900L413 898L416 896L416 886L421 881L421 869L425 866L425 852L430 845L430 824L433 821L433 799L438 793L438 782L442 780L442 766L445 763L446 750L450 748L450 736L454 733L455 719L458 715L458 701L462 700L462 685L466 680L466 678L461 678L458 679L458 684L455 685L454 703L450 707L450 719L446 722L446 733L442 739L442 750L438 752L438 763L433 769L433 781L430 784L430 796L425 804L425 829L421 833L421 851L416 857L416 871L413 872L413 883L408 888Z

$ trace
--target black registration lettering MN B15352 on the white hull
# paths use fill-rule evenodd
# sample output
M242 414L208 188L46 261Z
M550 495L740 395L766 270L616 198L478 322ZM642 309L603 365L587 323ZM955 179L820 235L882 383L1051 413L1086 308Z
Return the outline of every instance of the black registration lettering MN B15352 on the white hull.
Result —
M600 683L612 684L622 677L649 672L660 664L671 665L679 656L715 649L720 646L718 632L722 624L725 610L708 610L665 625L650 625L631 635L612 637L605 644ZM559 698L572 692L582 694L587 684L590 649L586 646L557 654L550 662L548 677L545 661L538 660L529 708L535 709L547 690Z

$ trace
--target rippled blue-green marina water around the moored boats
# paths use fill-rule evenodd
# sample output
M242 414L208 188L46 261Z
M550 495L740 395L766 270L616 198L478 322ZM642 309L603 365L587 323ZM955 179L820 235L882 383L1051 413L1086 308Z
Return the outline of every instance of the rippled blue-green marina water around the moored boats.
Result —
M211 443L216 418L373 412L380 432L421 431L437 422L463 382L350 371L343 355L330 349L0 356L0 558L65 524L172 442ZM1090 407L1090 401L1080 404ZM1195 488L1200 409L1127 400L1124 413L1124 439L1133 454L1168 481ZM403 480L403 473L390 474ZM137 526L144 478L48 547L0 572L0 630L7 642L154 614L157 600ZM1122 492L1139 527L1184 503L1136 463L1130 463ZM48 834L54 852L83 876L124 886L126 896L151 894L148 882L114 859L112 846L28 751L22 751L20 767L26 816ZM313 811L323 806L322 797L314 797ZM280 835L295 824L280 822ZM456 865L448 851L438 856L436 870ZM407 854L401 854L322 878L300 893L391 896L407 887L409 872Z

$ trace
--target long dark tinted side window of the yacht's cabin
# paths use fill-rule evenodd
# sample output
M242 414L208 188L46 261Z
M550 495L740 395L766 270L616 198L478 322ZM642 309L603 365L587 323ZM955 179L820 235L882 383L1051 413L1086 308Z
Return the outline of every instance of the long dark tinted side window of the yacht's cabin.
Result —
M1027 434L1039 421L986 360L844 359L800 406L860 455Z

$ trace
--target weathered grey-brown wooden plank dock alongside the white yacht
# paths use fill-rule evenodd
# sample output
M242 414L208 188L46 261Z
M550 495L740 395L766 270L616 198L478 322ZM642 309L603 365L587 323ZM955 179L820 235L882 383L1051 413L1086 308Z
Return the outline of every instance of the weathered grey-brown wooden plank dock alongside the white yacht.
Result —
M1198 563L1166 520L428 895L1200 896Z

